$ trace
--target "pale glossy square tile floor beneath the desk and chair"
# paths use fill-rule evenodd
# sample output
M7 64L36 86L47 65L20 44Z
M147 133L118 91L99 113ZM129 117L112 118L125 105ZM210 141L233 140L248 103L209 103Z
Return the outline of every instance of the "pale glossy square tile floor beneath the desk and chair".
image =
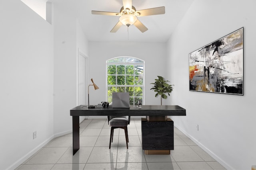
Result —
M72 133L57 137L16 170L224 170L209 154L174 127L170 155L145 155L141 147L140 119L128 125L129 149L123 129L114 130L108 149L110 127L106 119L80 123L80 150L72 154Z

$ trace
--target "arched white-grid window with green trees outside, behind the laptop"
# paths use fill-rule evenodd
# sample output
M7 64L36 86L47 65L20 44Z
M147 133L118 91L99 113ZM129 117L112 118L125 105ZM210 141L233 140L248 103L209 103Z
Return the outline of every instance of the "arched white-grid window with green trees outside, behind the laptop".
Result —
M134 57L116 57L106 61L108 102L112 92L129 92L130 105L144 99L144 61Z

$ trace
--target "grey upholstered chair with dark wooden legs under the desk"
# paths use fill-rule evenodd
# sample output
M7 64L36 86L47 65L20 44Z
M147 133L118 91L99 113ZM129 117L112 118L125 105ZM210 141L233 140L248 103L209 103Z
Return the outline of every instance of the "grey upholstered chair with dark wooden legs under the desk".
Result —
M128 139L127 125L130 124L130 117L131 116L108 116L108 125L111 127L109 149L110 149L111 143L113 142L114 129L116 128L124 129L126 147L128 149L129 139Z

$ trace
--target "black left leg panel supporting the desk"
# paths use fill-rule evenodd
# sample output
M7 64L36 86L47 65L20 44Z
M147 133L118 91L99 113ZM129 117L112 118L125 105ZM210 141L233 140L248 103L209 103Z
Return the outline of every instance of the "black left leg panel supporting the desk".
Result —
M72 116L72 125L73 125L73 155L80 148L79 143L79 116Z

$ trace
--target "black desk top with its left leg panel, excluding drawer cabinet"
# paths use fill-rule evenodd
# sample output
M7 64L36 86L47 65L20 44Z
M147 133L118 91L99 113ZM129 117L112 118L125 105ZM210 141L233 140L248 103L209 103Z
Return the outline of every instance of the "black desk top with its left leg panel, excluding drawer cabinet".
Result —
M88 109L85 105L80 105L70 109L73 124L73 155L79 150L79 116L108 116L108 115L128 115L128 116L186 116L186 109L180 106L160 106L143 105L141 108L130 106L130 108L108 108L96 107Z

